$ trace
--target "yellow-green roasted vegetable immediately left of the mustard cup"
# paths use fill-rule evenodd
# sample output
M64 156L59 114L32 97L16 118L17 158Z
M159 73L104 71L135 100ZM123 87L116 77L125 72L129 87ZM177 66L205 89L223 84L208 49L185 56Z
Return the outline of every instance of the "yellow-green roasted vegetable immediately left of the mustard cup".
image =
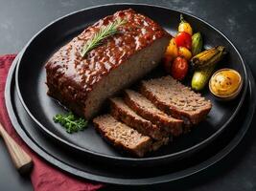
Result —
M198 69L192 77L191 87L193 90L200 91L207 84L210 76L213 74L215 66Z

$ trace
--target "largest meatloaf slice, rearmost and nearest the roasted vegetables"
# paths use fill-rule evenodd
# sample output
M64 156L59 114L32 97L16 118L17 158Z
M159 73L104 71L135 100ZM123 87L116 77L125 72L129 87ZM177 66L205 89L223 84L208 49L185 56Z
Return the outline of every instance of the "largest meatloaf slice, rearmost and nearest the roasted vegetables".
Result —
M183 119L189 125L198 124L212 108L210 100L196 94L169 75L143 81L140 92L160 110Z

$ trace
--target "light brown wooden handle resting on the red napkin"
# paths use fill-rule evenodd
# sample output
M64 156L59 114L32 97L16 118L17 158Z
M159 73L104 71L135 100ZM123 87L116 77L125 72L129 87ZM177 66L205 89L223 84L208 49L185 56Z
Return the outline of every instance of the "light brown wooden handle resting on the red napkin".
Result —
M0 134L2 135L8 151L11 155L12 161L16 169L24 174L31 170L33 160L31 157L8 135L2 124L0 123Z

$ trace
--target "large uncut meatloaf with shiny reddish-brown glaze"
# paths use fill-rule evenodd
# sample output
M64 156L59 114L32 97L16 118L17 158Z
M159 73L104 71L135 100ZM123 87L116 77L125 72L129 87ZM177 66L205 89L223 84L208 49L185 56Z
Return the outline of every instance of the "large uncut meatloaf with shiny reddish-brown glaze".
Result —
M118 32L84 56L84 44L106 25L124 19ZM117 11L86 28L46 63L48 95L76 114L90 119L105 99L117 93L160 61L171 35L149 17Z

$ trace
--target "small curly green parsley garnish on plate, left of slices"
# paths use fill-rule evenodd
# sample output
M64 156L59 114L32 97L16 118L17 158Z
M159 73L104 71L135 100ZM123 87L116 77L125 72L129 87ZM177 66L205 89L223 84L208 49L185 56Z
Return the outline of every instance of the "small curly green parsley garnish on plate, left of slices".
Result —
M69 134L82 131L87 126L87 121L84 118L75 117L71 112L56 115L54 121L60 123Z

